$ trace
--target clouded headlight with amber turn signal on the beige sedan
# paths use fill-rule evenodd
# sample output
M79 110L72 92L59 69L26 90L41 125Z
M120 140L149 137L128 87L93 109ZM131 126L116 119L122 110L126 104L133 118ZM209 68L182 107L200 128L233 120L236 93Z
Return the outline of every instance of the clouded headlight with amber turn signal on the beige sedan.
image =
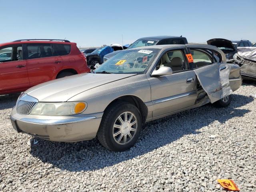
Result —
M86 109L85 102L65 102L65 103L37 103L30 114L34 115L74 115Z

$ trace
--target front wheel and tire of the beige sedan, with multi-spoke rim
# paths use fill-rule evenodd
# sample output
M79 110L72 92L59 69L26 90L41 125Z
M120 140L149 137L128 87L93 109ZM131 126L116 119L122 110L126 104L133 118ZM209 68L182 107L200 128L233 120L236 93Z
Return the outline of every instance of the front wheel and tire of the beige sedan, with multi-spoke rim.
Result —
M123 123L119 117L124 121ZM117 126L120 127L117 128ZM142 118L138 108L128 102L116 102L104 112L97 137L104 147L121 152L134 146L141 128Z

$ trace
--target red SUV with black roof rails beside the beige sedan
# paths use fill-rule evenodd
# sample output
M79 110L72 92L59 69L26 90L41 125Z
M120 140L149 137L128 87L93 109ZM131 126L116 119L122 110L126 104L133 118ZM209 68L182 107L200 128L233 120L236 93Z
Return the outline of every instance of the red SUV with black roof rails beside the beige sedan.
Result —
M26 39L0 44L0 95L90 72L86 57L68 40Z

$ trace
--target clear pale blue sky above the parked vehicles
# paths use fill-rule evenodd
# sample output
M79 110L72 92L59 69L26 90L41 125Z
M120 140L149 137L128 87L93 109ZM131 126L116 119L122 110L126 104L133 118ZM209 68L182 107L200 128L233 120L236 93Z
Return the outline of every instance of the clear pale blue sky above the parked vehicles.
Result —
M256 42L256 0L0 0L0 43L66 38L78 47L132 43L145 36Z

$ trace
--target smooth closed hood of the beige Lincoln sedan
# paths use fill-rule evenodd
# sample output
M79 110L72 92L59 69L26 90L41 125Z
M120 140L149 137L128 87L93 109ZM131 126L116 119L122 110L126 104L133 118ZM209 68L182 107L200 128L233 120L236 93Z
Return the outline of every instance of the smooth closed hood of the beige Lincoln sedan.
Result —
M135 74L84 73L42 83L26 90L26 94L39 102L66 102L71 97L92 88L108 84Z

